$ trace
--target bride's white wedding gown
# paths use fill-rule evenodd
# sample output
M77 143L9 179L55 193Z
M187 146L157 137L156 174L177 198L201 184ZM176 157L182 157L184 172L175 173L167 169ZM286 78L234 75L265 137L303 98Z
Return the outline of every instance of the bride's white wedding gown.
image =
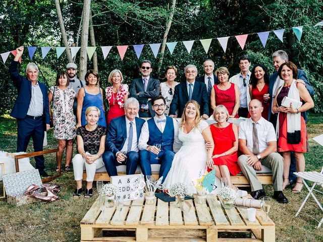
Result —
M200 173L205 173L207 153L202 131L206 127L208 124L201 120L200 126L188 134L183 132L183 128L179 129L178 138L183 145L174 156L172 167L164 181L165 188L170 188L174 183L180 182L187 185L188 194L196 193L191 181L196 180ZM219 181L216 178L217 186Z

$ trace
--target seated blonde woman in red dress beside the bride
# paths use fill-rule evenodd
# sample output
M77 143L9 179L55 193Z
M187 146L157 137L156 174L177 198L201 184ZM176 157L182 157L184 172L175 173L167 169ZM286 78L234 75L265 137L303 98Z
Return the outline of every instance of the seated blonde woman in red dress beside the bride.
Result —
M238 127L228 123L229 112L224 105L218 105L213 111L213 118L218 123L210 125L214 141L213 168L216 169L216 176L227 178L228 186L238 190L231 184L230 174L236 175L240 172L238 160Z

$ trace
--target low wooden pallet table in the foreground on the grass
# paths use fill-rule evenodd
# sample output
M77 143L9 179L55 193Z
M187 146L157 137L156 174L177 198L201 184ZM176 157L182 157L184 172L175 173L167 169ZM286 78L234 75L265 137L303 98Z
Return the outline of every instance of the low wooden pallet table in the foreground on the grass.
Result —
M144 200L127 201L124 204L129 206L121 212L114 207L102 213L96 199L81 221L81 241L275 241L275 223L264 222L261 209L257 209L256 221L250 222L245 208L223 209L215 195L208 195L204 205L186 201L192 205L186 214L175 202L159 199L154 205L144 205ZM135 231L135 237L102 235L103 231L129 230ZM250 232L252 236L218 238L218 232Z

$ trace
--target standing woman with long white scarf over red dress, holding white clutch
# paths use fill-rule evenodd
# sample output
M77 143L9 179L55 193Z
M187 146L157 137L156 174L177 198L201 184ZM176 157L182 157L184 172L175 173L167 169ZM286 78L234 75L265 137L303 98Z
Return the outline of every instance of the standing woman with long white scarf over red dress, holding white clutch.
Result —
M283 152L283 190L289 184L289 166L291 163L291 151L294 152L296 170L305 170L304 152L306 152L306 125L303 114L314 107L314 102L309 95L302 80L297 80L298 70L292 62L284 63L278 70L278 76L284 80L284 84L278 88L273 105L273 112L278 113L276 133L278 138L278 152ZM296 101L303 101L300 107L282 106L283 98L287 96ZM293 193L299 193L303 188L302 178L298 177Z

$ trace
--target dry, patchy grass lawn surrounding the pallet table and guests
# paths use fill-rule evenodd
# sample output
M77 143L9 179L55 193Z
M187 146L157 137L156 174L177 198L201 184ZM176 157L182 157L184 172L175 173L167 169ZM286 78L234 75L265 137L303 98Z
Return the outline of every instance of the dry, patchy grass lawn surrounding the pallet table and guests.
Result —
M305 154L306 170L320 171L323 160L323 147L311 138L323 132L323 114L309 114L307 125L310 151ZM57 141L52 137L52 130L47 133L48 146L45 149L57 148ZM0 117L0 150L16 151L16 120L9 116ZM74 149L75 150L75 149ZM32 152L29 144L27 152ZM55 155L45 156L47 172L55 172ZM33 159L32 159L33 162ZM64 164L63 160L63 164ZM37 203L15 207L0 199L0 241L79 241L80 221L91 207L97 194L91 199L74 199L75 189L73 173L64 173L55 181L61 186L60 199L52 203ZM95 189L94 189L95 190ZM273 186L266 186L268 196L274 193ZM284 194L289 199L288 204L272 202L269 216L276 224L276 241L323 241L323 226L316 229L317 221L309 216L295 213L307 195L303 189L300 194L292 194L287 189ZM318 195L320 202L323 196ZM309 199L302 212L317 220L323 216L313 199ZM219 234L221 236L221 234ZM242 240L241 240L242 241Z

